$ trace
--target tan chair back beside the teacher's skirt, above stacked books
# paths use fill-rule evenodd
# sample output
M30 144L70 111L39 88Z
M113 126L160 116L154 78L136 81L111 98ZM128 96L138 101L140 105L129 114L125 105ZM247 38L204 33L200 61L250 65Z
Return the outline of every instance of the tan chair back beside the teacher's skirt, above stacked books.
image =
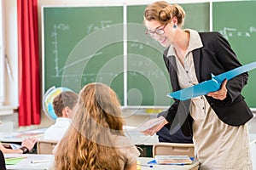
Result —
M194 144L165 143L160 142L153 145L154 156L190 156L195 157Z

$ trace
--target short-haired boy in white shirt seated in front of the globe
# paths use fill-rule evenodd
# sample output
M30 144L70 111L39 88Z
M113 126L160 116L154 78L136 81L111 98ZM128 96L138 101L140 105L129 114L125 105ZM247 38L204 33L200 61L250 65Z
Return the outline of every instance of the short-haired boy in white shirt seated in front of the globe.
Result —
M47 128L44 139L61 140L70 125L73 116L73 107L78 101L78 94L64 91L55 96L53 107L57 116L55 124Z

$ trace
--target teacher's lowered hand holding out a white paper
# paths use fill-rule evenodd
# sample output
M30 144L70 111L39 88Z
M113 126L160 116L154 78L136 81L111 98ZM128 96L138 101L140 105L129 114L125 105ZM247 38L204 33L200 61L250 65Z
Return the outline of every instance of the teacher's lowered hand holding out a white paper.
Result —
M148 122L145 122L143 124L143 127L149 127L150 125L154 124L155 122L159 122L159 123L157 123L153 127L150 127L144 131L141 131L141 133L143 133L144 135L152 136L154 133L157 133L158 131L160 131L160 129L168 123L163 116L160 116L158 118L150 119Z

